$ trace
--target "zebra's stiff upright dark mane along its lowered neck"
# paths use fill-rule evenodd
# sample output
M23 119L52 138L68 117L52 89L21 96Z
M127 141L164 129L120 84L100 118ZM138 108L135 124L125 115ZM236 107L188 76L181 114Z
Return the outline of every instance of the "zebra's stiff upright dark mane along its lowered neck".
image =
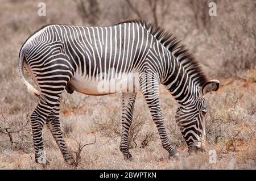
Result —
M190 50L181 44L181 41L177 39L172 33L164 31L163 28L156 27L153 23L148 23L143 20L127 20L122 23L138 23L150 32L164 47L166 47L174 57L184 66L185 71L191 72L190 74L196 74L197 83L203 86L208 81L207 76L196 58L190 52Z

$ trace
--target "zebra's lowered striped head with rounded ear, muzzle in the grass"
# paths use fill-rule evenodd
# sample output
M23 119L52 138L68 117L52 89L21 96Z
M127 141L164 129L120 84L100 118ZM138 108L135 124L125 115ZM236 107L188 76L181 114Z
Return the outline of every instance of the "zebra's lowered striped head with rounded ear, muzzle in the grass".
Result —
M188 152L204 151L205 145L205 121L207 104L204 96L208 92L217 91L219 81L212 80L197 87L195 99L186 104L180 104L176 112L176 123L180 127L181 134L188 145Z

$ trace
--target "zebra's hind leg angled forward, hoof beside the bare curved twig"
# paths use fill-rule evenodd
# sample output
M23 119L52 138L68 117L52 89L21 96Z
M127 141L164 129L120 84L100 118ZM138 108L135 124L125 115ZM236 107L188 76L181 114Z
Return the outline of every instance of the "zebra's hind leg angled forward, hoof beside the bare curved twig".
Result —
M55 141L57 142L57 145L60 148L64 161L72 165L73 163L75 163L75 159L73 158L73 155L68 150L68 147L63 139L63 132L61 129L59 115L60 115L60 101L56 104L52 112L49 114L46 124L49 130L51 131Z

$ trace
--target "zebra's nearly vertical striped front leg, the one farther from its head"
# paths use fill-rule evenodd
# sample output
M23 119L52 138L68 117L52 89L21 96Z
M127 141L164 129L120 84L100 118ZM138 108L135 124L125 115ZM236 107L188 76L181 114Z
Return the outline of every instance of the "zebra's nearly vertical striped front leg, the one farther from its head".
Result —
M124 159L128 160L132 158L129 151L128 136L133 121L133 109L136 95L136 92L123 92L122 94L122 136L120 150L123 153Z

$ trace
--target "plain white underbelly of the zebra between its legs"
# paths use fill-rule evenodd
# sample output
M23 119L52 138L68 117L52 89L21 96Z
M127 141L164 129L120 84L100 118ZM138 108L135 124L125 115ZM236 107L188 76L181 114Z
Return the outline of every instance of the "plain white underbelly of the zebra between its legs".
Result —
M96 79L75 76L69 82L77 92L88 95L106 95L116 92L138 92L139 81L127 76L112 79Z

